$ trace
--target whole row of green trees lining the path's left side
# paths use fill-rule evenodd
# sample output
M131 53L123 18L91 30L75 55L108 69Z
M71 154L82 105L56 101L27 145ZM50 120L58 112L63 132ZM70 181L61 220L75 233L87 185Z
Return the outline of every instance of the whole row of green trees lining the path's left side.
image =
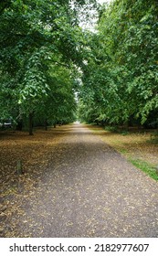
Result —
M21 127L29 118L30 134L33 116L37 123L74 120L84 56L79 10L92 5L95 0L1 1L0 120Z

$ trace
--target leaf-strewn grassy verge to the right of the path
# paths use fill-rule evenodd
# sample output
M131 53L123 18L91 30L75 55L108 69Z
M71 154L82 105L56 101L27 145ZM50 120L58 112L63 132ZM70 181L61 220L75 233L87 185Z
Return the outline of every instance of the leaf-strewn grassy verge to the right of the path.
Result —
M158 143L151 131L118 132L97 125L90 129L100 135L101 140L110 144L128 161L154 180L158 180Z

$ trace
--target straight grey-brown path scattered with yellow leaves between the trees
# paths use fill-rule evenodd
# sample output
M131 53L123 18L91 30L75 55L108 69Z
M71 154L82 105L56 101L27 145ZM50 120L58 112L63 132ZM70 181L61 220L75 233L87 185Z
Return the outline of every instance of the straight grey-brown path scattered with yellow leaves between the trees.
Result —
M24 204L22 236L158 237L158 184L84 125L58 131L65 136Z

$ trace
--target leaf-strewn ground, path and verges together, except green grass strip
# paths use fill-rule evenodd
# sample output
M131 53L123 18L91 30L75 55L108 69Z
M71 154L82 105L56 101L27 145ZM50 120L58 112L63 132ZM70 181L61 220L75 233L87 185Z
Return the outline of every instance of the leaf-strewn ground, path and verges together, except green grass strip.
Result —
M88 128L0 132L0 237L158 236L157 182L115 150L156 166L157 144Z

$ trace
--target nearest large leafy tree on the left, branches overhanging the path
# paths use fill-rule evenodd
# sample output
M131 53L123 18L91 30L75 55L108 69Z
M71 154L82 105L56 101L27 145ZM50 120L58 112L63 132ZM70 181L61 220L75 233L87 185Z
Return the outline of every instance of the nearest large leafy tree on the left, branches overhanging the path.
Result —
M56 56L61 67L82 64L79 8L90 3L95 1L1 1L1 117L14 109L17 117L25 113L32 119L53 93L47 70Z

